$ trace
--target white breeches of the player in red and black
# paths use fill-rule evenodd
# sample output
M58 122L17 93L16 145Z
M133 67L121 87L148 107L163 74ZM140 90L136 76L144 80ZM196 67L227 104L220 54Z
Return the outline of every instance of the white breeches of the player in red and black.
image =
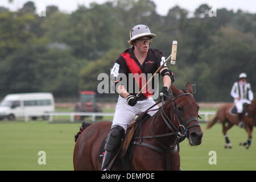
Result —
M121 96L118 97L117 105L115 106L115 114L113 119L113 125L122 126L123 129L127 129L127 126L130 124L131 120L135 117L136 114L140 114L143 111L146 111L149 107L155 104L155 101L152 97L144 100L138 101L135 106L129 106L125 100ZM155 105L152 109L158 109L159 107ZM154 115L158 110L149 111L149 115Z

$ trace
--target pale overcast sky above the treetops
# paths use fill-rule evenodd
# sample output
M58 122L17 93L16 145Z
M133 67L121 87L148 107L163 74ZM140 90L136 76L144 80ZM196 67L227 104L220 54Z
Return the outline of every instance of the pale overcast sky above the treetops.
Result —
M14 0L13 3L9 3L8 0L0 0L0 6L9 7L11 10L20 9L28 0ZM104 3L107 0L32 0L38 9L42 9L48 5L56 5L60 10L68 13L77 9L77 5L89 6L91 2ZM256 13L256 1L255 0L152 0L156 4L156 10L160 15L166 15L168 10L179 5L189 11L194 11L199 5L207 3L217 9L225 7L228 10L248 11L250 13Z

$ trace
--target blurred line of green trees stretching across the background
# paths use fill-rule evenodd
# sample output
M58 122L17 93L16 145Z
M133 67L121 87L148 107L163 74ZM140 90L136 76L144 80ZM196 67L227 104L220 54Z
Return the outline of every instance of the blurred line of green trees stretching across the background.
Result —
M17 11L0 7L0 96L52 92L76 97L97 91L97 75L110 73L129 48L129 31L146 24L156 34L151 47L170 55L177 40L175 85L196 84L197 101L232 101L230 90L241 72L256 90L256 14L200 5L189 15L179 6L159 15L150 0L116 0L79 6L64 13L47 6L46 16L28 1ZM161 80L161 79L160 79ZM110 97L102 94L99 97Z

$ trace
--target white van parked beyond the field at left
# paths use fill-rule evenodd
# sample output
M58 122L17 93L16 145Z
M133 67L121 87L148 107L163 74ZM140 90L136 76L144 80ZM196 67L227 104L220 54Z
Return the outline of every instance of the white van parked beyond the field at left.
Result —
M27 114L32 119L42 117L47 119L47 112L55 110L52 93L19 93L9 94L0 104L0 119L25 117ZM35 115L33 115L35 114Z

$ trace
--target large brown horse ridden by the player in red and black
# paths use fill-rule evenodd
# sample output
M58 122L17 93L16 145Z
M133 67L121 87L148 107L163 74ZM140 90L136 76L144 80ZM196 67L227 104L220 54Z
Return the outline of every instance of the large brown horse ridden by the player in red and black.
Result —
M180 137L184 137L184 129L187 129L191 146L201 144L203 132L197 121L199 106L193 98L191 84L187 84L187 91L177 89L174 85L171 89L174 97L141 126L140 136L143 138L141 142L133 143L132 170L179 170L180 155L176 144ZM112 122L97 122L82 131L73 153L75 170L101 169L98 152L111 125ZM115 164L112 169L125 168L122 164Z

